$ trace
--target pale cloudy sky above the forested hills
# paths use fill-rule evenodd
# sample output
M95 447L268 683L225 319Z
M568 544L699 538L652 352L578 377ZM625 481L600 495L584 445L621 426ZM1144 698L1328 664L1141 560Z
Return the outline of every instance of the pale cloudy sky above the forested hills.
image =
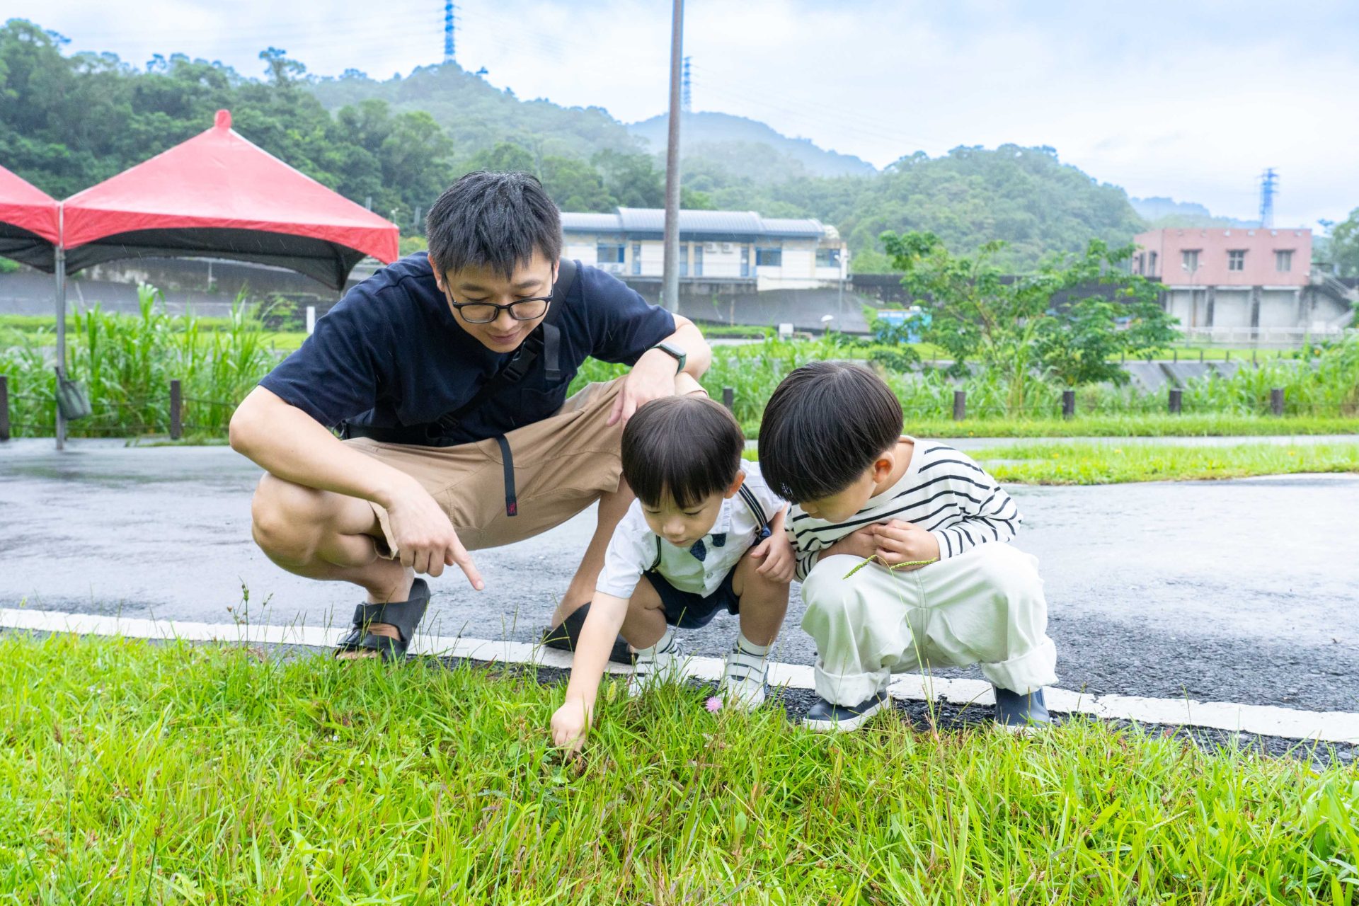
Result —
M443 0L7 0L71 39L260 75L390 77L443 56ZM457 57L523 99L666 107L665 0L465 0ZM1279 225L1359 206L1359 0L688 0L693 107L762 120L886 166L1007 141L1057 149L1132 196L1253 217L1276 167Z

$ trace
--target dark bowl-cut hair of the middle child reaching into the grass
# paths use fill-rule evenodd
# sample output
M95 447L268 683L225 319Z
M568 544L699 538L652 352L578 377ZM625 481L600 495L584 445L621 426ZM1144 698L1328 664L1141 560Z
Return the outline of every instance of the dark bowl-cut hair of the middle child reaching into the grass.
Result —
M647 507L669 496L689 509L731 486L745 446L737 420L707 397L654 399L622 429L622 477Z

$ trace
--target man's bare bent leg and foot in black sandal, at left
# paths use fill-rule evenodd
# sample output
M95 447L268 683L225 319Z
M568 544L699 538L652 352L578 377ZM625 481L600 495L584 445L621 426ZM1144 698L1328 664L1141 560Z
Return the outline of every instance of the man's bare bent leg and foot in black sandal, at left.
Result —
M265 474L250 503L255 543L288 572L323 581L348 581L367 592L370 604L406 600L414 572L378 556L374 538L382 528L366 500L317 490ZM368 630L398 638L395 626ZM374 657L376 652L341 652L340 657Z

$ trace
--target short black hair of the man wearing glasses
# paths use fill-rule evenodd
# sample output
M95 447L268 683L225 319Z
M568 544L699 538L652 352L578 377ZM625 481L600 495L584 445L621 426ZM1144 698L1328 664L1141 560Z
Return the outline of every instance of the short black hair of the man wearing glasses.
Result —
M429 262L439 273L491 268L506 278L533 259L561 258L561 212L529 173L469 173L425 217Z

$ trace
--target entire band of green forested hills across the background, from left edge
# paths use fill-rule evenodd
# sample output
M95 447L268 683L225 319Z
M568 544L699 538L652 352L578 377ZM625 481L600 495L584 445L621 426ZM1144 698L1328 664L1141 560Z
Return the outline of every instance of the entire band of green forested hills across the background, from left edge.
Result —
M482 167L538 174L568 211L662 204L658 155L601 107L519 101L454 65L376 81L315 79L281 50L261 57L265 77L253 79L183 56L67 56L60 35L12 19L0 26L0 163L61 198L202 132L227 107L242 136L406 234L443 187ZM1120 187L1052 148L962 147L874 173L754 121L689 121L701 125L685 144L685 206L819 217L847 238L856 270L886 266L885 230L931 230L958 253L1003 239L1006 264L1026 268L1091 236L1125 243L1144 225ZM726 130L704 130L712 124ZM828 167L863 175L818 175Z

